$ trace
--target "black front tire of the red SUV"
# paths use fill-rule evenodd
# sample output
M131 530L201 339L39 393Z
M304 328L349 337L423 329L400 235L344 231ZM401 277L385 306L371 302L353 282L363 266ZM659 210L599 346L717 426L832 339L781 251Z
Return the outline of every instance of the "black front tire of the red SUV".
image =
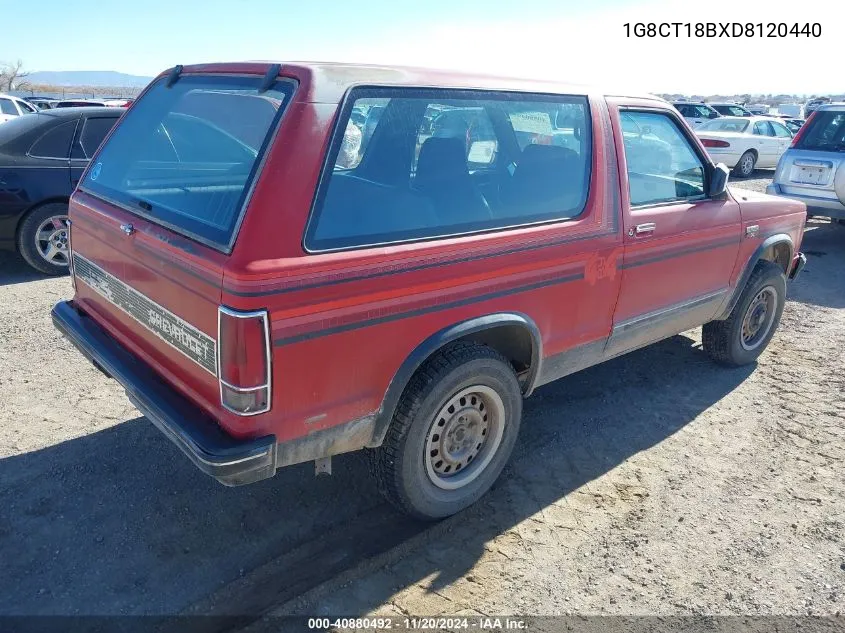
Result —
M759 338L751 337L743 344L743 322L749 308L764 289L771 288L774 292L772 307L766 308L765 332L757 330ZM767 291L768 292L768 291ZM754 268L751 278L745 285L730 315L724 321L710 321L702 329L702 345L704 351L718 363L739 367L757 360L763 350L772 340L772 336L780 323L783 306L786 302L786 275L783 269L773 262L761 261ZM769 313L769 311L772 311ZM753 311L752 315L753 316ZM771 318L769 322L768 319ZM750 349L749 347L750 346Z

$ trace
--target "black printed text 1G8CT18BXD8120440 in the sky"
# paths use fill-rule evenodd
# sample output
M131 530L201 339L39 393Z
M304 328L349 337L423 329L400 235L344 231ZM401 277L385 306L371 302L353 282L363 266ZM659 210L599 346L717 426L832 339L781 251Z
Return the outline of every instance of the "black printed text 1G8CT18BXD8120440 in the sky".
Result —
M818 22L626 22L625 37L821 37Z

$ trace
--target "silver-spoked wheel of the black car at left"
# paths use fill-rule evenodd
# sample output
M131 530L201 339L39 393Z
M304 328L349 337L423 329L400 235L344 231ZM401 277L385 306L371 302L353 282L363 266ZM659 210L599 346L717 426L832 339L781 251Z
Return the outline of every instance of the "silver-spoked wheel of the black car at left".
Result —
M18 252L26 263L48 275L68 271L70 225L67 204L54 202L34 209L18 230Z

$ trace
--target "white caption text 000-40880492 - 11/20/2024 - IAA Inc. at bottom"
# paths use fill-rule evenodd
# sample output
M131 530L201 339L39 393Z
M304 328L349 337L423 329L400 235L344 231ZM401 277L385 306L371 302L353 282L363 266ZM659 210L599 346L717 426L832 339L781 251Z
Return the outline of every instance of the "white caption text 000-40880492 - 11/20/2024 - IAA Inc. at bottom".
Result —
M525 620L513 617L420 617L420 618L309 618L308 628L312 631L524 631Z

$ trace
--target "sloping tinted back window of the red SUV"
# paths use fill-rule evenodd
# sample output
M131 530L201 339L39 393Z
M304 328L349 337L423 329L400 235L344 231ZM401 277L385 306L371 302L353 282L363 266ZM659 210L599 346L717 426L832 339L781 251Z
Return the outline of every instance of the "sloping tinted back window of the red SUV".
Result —
M292 84L186 75L158 81L123 115L83 187L224 250Z

